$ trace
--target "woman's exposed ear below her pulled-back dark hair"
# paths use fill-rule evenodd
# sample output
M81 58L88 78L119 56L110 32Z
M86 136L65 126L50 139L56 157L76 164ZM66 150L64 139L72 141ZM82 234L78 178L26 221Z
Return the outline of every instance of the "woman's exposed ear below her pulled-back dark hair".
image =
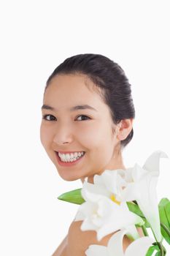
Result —
M133 118L123 119L118 124L117 139L125 140L133 128Z

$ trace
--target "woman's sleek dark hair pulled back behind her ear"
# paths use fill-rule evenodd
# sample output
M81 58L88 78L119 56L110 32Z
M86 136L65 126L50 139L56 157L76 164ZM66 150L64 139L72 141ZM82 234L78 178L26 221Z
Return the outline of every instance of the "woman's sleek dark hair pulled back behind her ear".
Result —
M100 54L85 53L67 58L47 79L45 90L55 75L76 73L88 75L96 88L104 92L103 100L109 106L114 124L126 118L135 118L131 84L125 72L117 63ZM121 148L131 141L133 135L132 128L127 138L120 141Z

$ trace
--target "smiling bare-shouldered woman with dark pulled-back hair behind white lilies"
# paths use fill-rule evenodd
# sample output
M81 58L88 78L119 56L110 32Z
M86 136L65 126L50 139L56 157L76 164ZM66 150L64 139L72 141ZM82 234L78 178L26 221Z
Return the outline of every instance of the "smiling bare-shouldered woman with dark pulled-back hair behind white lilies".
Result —
M122 151L133 138L134 117L131 85L118 64L99 54L72 56L47 80L41 142L61 178L93 183L106 169L125 170ZM98 242L96 232L82 232L81 224L72 222L53 256L81 256L90 244L107 246L113 233ZM125 236L123 249L130 243Z

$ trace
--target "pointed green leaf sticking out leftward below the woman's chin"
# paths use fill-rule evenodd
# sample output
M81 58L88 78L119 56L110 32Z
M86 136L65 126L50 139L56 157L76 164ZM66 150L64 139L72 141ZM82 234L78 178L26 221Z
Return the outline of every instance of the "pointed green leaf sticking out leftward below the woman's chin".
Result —
M63 193L59 195L58 199L80 205L85 202L85 200L82 198L81 190L82 189L74 189L72 191Z

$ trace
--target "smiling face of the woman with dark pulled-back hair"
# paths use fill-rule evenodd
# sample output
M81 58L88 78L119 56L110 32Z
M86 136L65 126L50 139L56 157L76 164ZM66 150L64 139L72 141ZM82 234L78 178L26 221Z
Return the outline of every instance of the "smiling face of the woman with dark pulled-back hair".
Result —
M59 175L66 181L85 177L91 181L95 174L117 165L114 153L119 140L113 132L115 124L108 106L93 86L85 75L57 75L45 91L40 138ZM93 109L72 110L80 105ZM77 162L64 166L58 162L56 151L85 151L85 154Z

